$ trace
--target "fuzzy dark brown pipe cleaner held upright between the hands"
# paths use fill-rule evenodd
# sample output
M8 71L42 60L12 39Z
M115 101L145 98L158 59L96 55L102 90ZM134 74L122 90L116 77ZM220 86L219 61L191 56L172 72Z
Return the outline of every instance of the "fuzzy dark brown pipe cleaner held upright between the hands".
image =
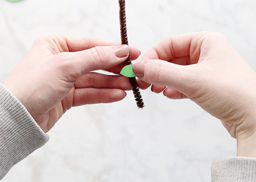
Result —
M121 39L122 44L128 45L128 36L127 36L127 29L126 29L126 13L125 13L125 0L119 0L119 17L120 17L120 30L121 30ZM130 55L125 61L126 65L131 65L131 58ZM138 88L137 81L135 77L129 78L130 84L132 86L132 91L137 103L138 108L144 107L144 102L142 100L140 89Z

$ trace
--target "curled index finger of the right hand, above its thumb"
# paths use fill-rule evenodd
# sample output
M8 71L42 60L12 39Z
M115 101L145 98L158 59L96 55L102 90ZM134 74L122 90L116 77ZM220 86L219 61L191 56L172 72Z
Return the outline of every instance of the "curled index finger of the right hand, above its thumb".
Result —
M162 59L170 61L174 57L189 57L190 64L197 63L200 46L205 35L206 33L190 33L169 37L151 48L142 60Z

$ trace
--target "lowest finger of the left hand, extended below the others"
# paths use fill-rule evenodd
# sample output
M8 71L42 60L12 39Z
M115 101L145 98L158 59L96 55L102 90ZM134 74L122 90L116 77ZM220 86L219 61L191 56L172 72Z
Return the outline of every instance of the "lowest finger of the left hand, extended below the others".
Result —
M121 89L77 88L74 92L73 106L117 102L125 96L126 93Z

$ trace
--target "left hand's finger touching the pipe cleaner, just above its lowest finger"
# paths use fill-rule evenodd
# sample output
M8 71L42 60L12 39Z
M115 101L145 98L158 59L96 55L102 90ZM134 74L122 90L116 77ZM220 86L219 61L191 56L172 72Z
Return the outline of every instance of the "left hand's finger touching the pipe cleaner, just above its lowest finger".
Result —
M119 88L131 90L129 79L119 75L105 75L96 72L83 74L75 82L76 88Z

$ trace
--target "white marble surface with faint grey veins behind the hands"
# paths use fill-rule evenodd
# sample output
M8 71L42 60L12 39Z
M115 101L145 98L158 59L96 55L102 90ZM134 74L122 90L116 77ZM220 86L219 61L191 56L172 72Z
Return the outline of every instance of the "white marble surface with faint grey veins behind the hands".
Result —
M170 35L221 31L256 70L255 0L127 0L127 17L130 45L142 54ZM118 1L0 0L0 81L48 34L119 41ZM143 110L131 92L72 108L2 182L210 182L211 160L236 155L235 139L193 102L142 96Z

